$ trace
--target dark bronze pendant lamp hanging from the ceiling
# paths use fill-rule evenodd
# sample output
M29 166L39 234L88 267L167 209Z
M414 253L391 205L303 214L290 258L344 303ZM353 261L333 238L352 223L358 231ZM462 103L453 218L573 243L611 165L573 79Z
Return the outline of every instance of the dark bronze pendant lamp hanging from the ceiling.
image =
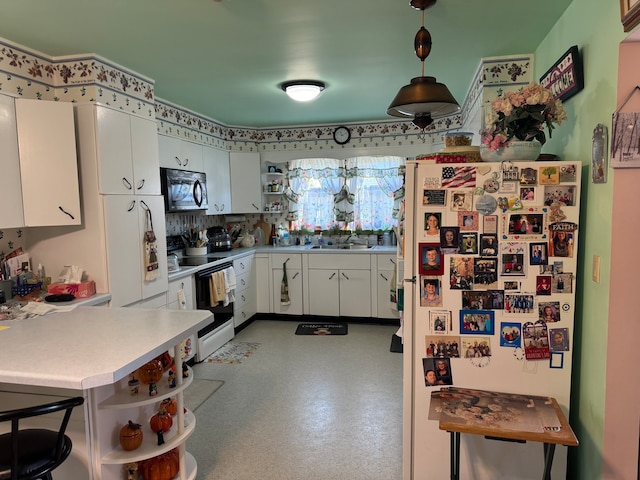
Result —
M411 0L410 4L422 12L422 26L414 40L416 56L422 63L422 76L411 79L409 85L400 89L387 109L388 115L413 118L413 124L421 130L433 119L460 111L460 105L443 83L435 77L424 76L424 60L431 53L431 34L424 28L424 11L435 5L436 0Z

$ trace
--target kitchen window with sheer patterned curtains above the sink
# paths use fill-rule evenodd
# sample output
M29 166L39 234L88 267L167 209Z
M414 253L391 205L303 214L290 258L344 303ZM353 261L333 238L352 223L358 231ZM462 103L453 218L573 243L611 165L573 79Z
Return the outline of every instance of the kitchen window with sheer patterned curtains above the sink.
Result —
M287 172L289 219L297 230L390 230L404 197L402 157L293 160Z

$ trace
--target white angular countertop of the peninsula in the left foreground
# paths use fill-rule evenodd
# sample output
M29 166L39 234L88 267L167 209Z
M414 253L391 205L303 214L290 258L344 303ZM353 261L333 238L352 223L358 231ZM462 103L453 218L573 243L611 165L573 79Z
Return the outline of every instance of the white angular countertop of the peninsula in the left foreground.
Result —
M210 322L207 310L78 307L0 323L0 383L89 389L117 382Z

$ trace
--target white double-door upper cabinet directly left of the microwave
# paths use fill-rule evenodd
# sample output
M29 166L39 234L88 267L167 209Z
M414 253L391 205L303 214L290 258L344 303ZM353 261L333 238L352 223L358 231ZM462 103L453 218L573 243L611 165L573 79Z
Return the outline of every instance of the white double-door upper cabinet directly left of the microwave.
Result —
M95 116L99 192L159 195L155 121L104 105L84 104L76 109L82 118Z

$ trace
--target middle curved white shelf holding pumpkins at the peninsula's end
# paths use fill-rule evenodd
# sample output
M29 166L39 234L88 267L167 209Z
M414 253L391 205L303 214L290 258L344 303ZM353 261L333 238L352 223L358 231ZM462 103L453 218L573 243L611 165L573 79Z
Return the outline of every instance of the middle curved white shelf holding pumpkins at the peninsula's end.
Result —
M102 456L102 464L125 464L130 462L139 462L147 460L162 453L168 452L184 443L191 436L196 428L196 417L193 412L187 410L185 418L185 427L182 432L178 430L176 425L178 416L174 417L174 424L171 429L163 434L164 444L158 445L157 435L151 432L149 425L142 425L143 440L142 445L135 450L127 451L118 446Z

